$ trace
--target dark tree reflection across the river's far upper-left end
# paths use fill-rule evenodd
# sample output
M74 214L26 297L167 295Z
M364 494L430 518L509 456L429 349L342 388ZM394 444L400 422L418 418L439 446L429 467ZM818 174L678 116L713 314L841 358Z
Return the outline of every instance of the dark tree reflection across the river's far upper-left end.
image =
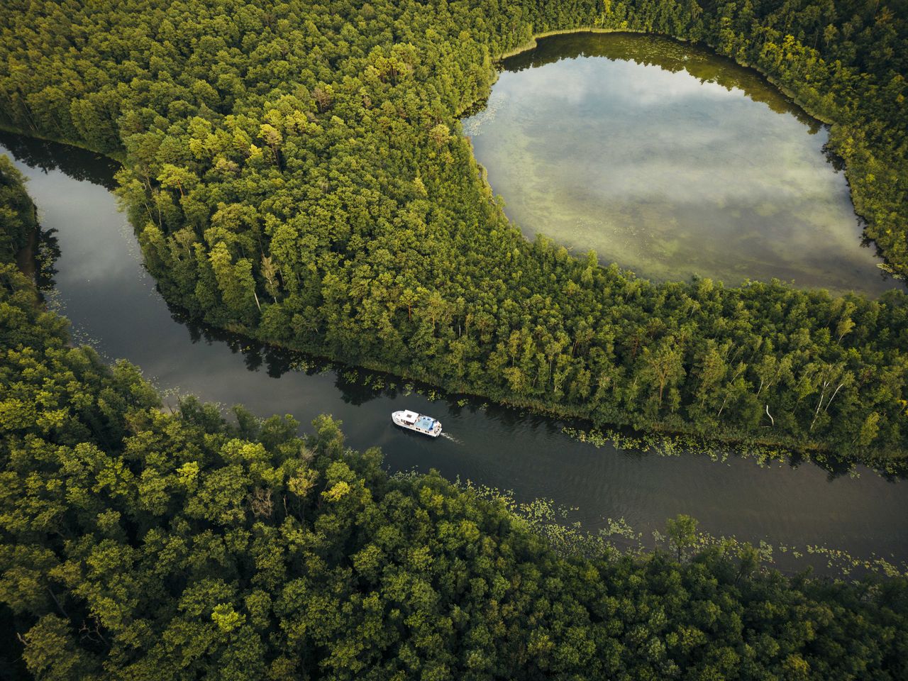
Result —
M44 173L60 170L74 180L99 184L104 189L113 190L117 186L114 173L120 165L107 156L5 131L0 131L0 145L5 146L16 161L40 168Z

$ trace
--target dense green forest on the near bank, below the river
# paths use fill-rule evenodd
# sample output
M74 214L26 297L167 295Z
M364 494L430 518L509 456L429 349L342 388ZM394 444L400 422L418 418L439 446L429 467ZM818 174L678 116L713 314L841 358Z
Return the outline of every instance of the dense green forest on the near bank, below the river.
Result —
M0 229L35 208L0 158ZM14 239L15 237L15 239ZM223 414L75 347L0 262L0 677L903 679L908 580L755 548L556 550L500 502L389 476L330 417ZM229 416L227 419L225 416Z

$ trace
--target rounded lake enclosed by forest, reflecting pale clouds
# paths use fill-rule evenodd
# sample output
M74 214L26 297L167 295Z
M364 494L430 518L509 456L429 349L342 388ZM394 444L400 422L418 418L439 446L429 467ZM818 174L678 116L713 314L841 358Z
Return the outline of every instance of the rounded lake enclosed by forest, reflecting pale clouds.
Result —
M641 35L560 35L504 62L464 121L524 232L659 280L878 294L828 130L753 71Z

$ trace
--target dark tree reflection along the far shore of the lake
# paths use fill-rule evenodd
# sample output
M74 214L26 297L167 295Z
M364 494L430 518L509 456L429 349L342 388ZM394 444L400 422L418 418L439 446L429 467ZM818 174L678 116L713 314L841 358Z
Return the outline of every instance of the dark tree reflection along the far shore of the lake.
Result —
M680 43L670 38L595 33L552 35L540 38L535 49L508 57L502 65L508 71L523 71L562 59L594 56L658 66L673 74L686 71L701 83L716 83L727 90L738 88L754 102L766 104L776 114L794 115L811 134L818 133L823 127L823 123L806 114L753 69L735 64L731 59L700 45Z

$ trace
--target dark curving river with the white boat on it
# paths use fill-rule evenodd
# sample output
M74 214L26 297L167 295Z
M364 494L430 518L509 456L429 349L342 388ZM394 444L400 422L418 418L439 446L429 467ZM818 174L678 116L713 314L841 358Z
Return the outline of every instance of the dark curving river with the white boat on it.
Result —
M321 413L343 421L352 447L378 445L390 470L438 469L448 479L510 489L519 500L553 498L577 508L586 528L625 518L646 537L666 518L688 513L716 535L775 546L826 545L857 558L908 560L908 488L862 469L859 479L812 465L759 467L734 456L716 463L687 453L659 457L596 449L568 439L562 423L469 401L429 400L405 390L375 390L319 370L300 355L263 349L188 325L168 309L144 271L138 244L114 195L115 167L79 149L0 134L29 178L44 229L56 230L52 305L73 323L76 340L109 359L138 364L170 394L193 393L224 405L243 403L303 424ZM361 372L360 372L361 376ZM386 379L387 380L387 379ZM391 425L409 408L438 417L449 439L430 440ZM816 561L814 561L816 562ZM782 568L803 568L776 553ZM819 561L820 568L825 559Z

